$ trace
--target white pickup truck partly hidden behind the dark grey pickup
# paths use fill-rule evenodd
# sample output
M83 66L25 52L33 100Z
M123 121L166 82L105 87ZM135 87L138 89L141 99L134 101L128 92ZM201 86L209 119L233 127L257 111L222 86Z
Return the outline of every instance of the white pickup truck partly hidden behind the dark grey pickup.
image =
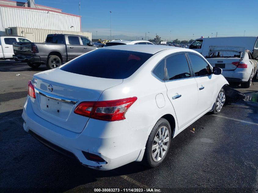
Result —
M0 36L0 58L13 58L13 42L31 42L23 36Z

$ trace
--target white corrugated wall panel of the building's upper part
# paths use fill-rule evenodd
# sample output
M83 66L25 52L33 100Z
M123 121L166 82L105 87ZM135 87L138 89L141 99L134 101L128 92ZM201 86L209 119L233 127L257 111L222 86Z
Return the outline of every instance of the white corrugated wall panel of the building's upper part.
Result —
M74 26L71 28L71 26ZM80 17L52 11L0 7L0 31L26 27L62 31L81 31Z

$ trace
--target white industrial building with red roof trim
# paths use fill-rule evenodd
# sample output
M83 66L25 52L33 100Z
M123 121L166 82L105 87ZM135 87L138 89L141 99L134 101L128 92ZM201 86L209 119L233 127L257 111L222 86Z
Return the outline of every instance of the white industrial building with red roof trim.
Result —
M83 35L91 40L91 33L81 31L81 16L37 5L34 0L0 0L0 35L20 35L43 42L50 33Z

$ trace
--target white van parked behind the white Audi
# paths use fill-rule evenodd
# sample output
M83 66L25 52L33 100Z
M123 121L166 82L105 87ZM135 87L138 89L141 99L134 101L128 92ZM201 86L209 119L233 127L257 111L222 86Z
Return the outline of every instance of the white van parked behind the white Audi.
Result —
M202 54L204 57L209 54L210 46L234 46L244 47L250 50L254 58L258 57L258 37L218 37L199 38L189 45L189 48ZM256 47L256 49L255 49Z

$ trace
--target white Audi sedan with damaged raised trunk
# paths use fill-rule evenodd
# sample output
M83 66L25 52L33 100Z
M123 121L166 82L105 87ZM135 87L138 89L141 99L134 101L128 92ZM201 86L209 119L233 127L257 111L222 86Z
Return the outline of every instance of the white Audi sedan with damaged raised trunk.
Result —
M222 75L231 82L238 82L249 88L257 77L257 61L253 54L243 47L210 46L205 58L212 65L223 69Z

